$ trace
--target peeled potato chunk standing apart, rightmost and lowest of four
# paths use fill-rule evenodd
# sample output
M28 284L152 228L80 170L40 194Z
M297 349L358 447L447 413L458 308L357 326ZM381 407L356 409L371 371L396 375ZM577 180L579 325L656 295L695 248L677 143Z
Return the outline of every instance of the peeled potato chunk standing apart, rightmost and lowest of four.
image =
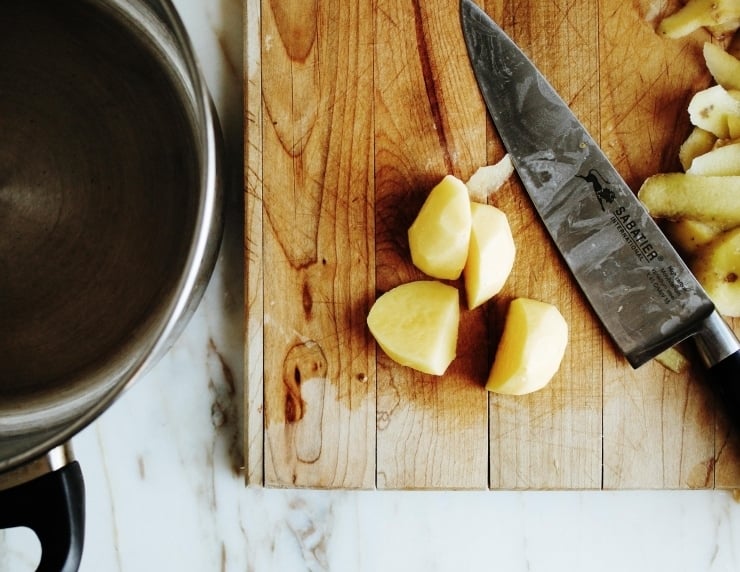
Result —
M568 324L552 304L516 298L509 305L486 389L524 395L555 376L568 345Z

